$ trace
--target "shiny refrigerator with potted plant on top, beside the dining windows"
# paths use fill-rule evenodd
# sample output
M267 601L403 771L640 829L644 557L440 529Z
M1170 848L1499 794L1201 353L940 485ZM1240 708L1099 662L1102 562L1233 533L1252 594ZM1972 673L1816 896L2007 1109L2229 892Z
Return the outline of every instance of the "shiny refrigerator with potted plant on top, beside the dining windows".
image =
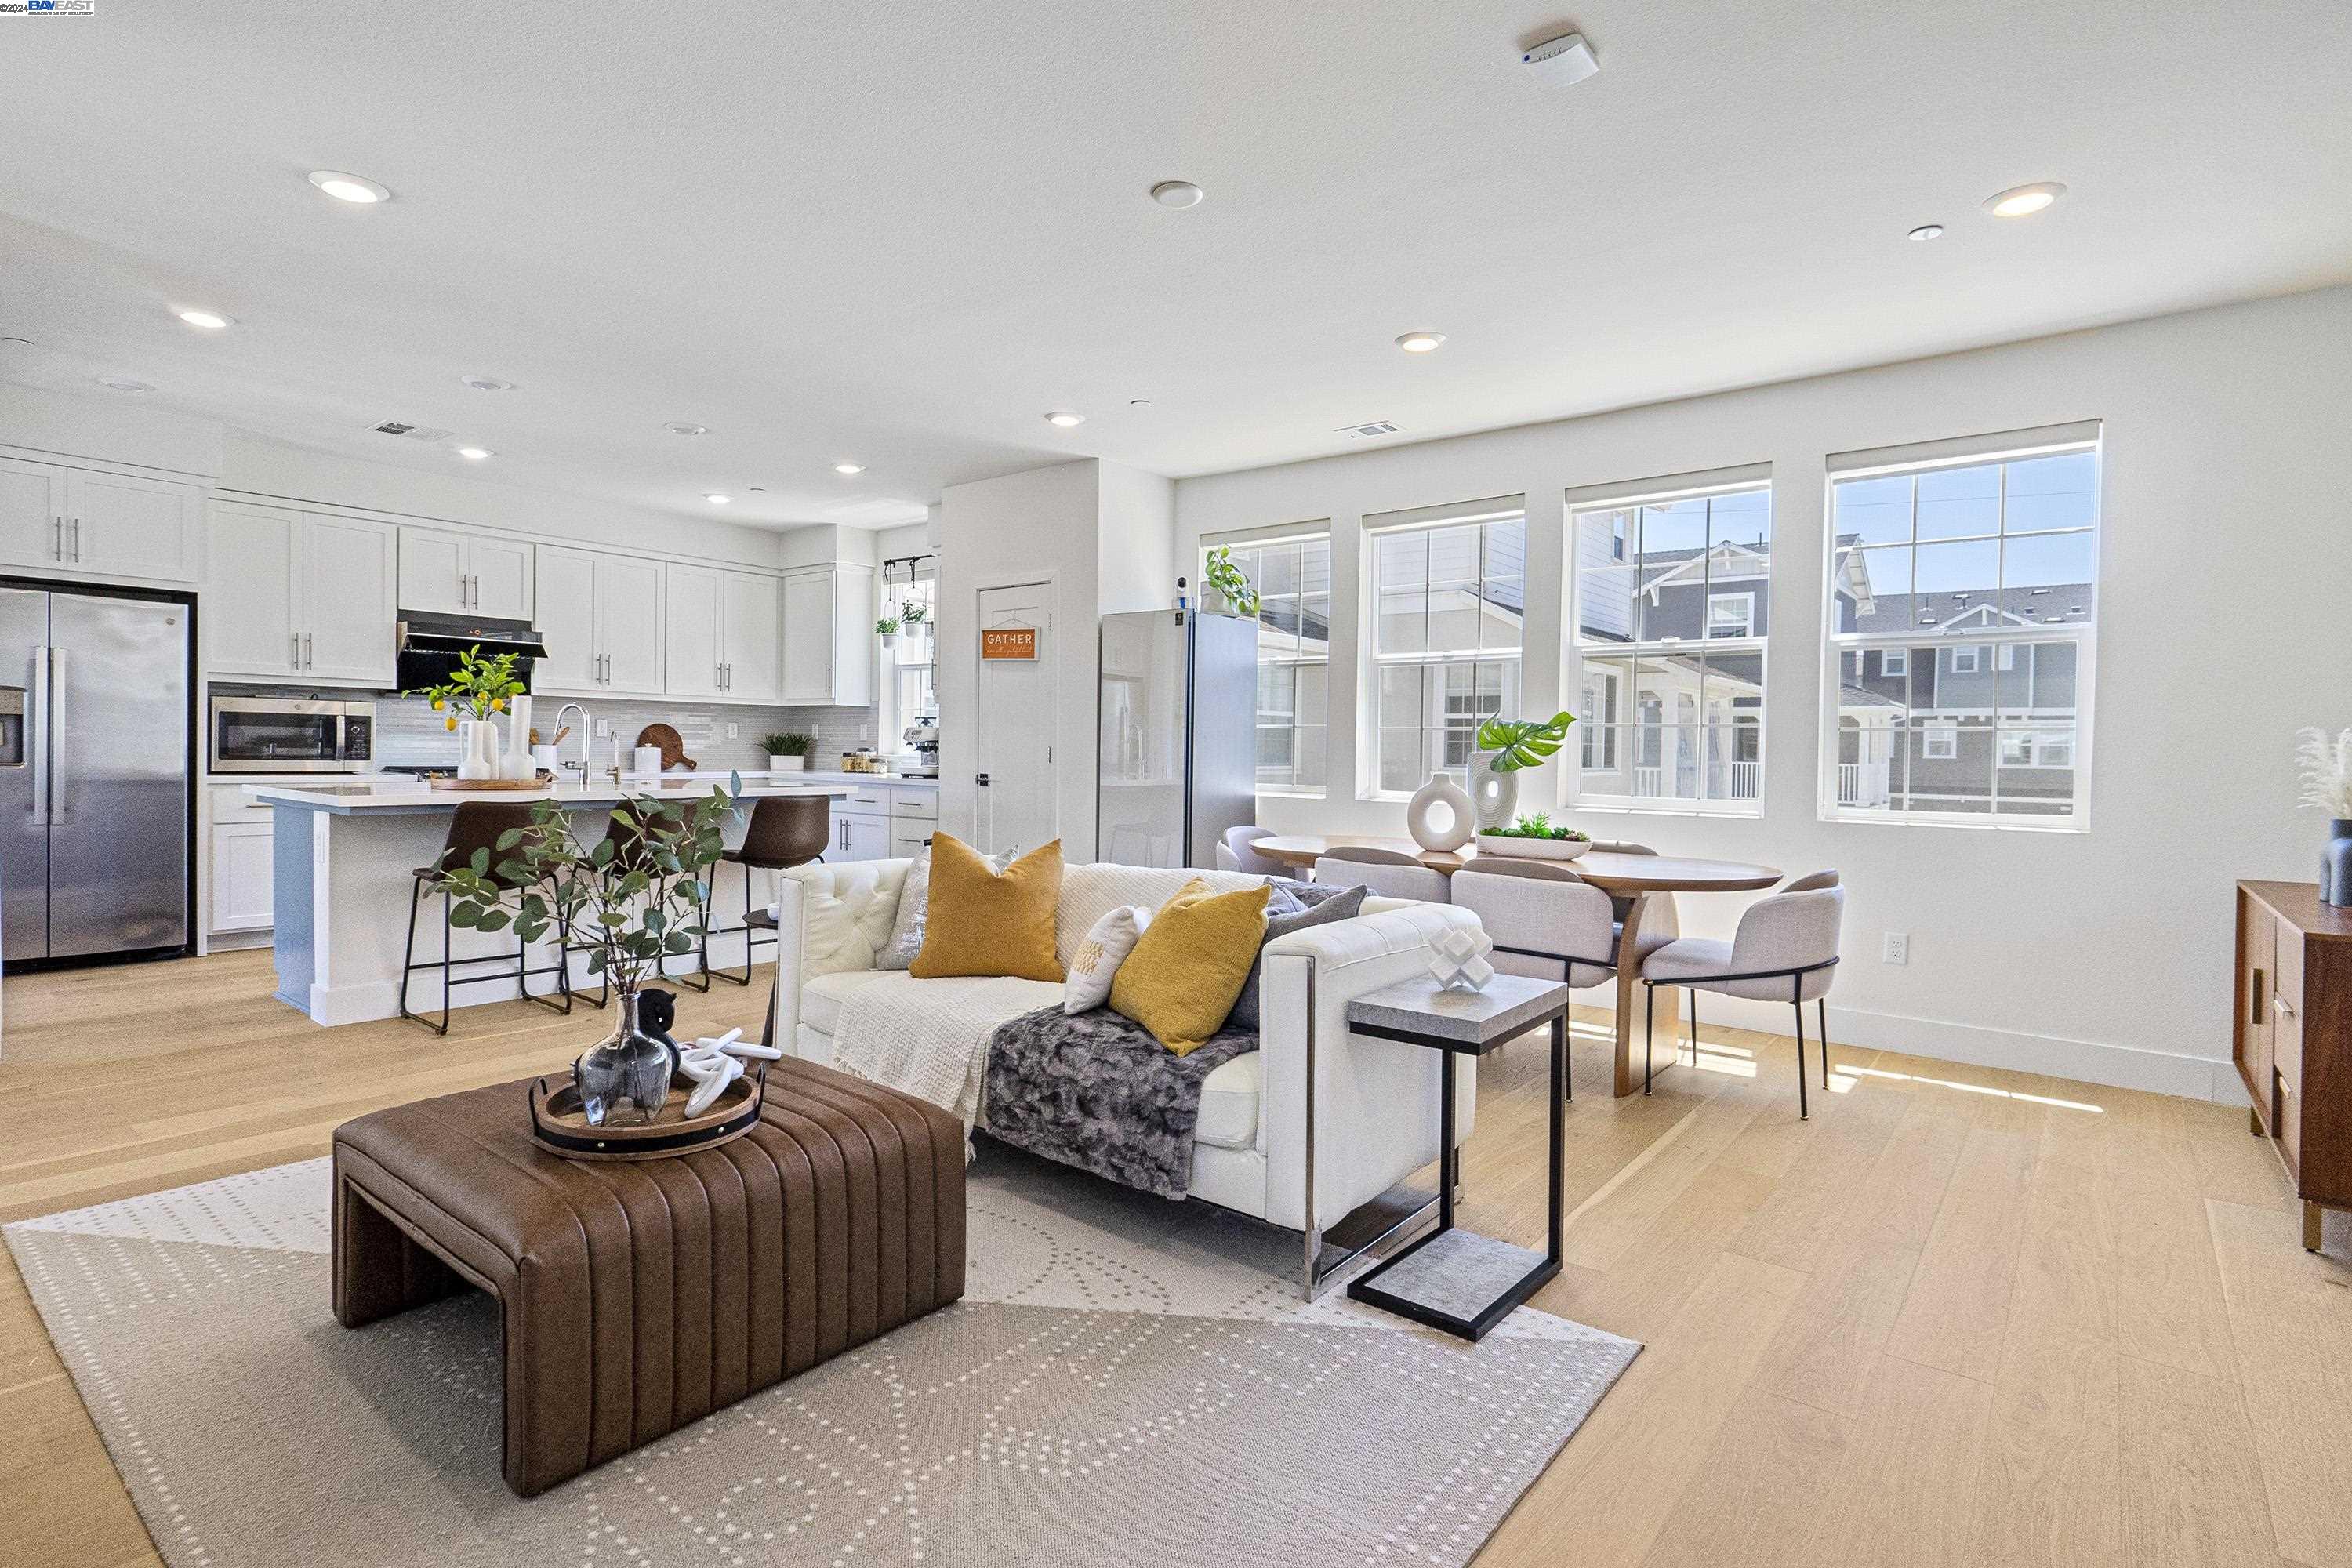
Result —
M1183 609L1103 616L1094 853L1216 865L1258 820L1258 623Z

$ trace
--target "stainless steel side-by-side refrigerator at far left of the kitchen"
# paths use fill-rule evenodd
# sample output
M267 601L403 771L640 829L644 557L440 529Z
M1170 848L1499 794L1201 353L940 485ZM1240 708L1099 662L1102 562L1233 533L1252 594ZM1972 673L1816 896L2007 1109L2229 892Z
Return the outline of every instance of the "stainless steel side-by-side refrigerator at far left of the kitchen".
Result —
M186 950L195 614L0 585L0 959Z

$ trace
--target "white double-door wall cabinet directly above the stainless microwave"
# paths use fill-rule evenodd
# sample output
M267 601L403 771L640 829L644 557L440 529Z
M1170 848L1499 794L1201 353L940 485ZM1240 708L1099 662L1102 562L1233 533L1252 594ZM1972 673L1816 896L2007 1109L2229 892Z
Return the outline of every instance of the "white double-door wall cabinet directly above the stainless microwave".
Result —
M216 501L209 534L212 675L393 684L393 524Z

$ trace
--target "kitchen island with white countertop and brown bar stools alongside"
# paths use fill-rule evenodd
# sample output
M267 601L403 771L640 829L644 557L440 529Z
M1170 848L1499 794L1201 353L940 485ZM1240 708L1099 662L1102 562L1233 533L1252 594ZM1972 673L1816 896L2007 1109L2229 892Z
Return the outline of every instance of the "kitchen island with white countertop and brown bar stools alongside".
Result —
M574 816L581 842L604 837L604 816L621 799L701 799L713 788L727 788L724 776L626 778L562 783L546 790L433 790L423 783L299 783L247 790L270 806L273 856L273 940L278 961L278 999L308 1013L320 1025L372 1023L400 1016L400 976L407 961L409 903L414 872L435 865L449 837L449 818L470 799L517 804L557 799ZM849 795L837 783L786 783L781 778L743 778L739 799L771 795L814 795L840 799ZM741 813L748 816L748 809ZM729 823L727 842L743 837L743 823ZM743 924L741 872L710 877L715 907L713 929ZM767 875L755 872L755 898L767 893ZM416 919L416 957L435 959L409 978L409 1011L440 1013L440 898L428 896ZM494 957L513 952L513 931L456 931L452 957ZM710 966L741 969L743 936L713 936ZM555 966L555 938L532 947L532 969ZM670 973L694 973L696 959L673 959ZM536 980L553 987L555 976ZM572 957L572 987L595 990L586 954ZM452 1006L508 1001L510 983L452 987Z

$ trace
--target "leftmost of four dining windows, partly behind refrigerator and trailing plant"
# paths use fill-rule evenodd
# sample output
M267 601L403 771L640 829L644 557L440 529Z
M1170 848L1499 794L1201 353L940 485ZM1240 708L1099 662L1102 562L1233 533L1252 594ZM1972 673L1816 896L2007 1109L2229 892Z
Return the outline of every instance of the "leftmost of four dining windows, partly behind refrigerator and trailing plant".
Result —
M1258 790L1324 788L1331 658L1331 536L1287 534L1232 548L1232 564L1258 590Z

